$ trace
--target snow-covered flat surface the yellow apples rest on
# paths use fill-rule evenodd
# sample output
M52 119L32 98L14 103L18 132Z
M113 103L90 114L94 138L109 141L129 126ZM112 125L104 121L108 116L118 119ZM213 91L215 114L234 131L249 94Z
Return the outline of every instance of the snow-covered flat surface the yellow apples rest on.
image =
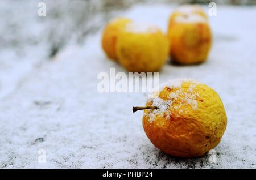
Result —
M158 25L166 32L174 6L135 5L118 15ZM207 8L205 6L205 8ZM84 45L67 46L54 61L32 68L0 109L0 168L255 168L256 7L217 7L210 17L214 43L208 61L167 63L160 83L193 78L222 98L228 126L210 155L175 158L151 144L142 127L144 93L99 93L97 75L126 72L101 50L101 32ZM17 73L19 65L16 67ZM38 151L46 151L46 163Z

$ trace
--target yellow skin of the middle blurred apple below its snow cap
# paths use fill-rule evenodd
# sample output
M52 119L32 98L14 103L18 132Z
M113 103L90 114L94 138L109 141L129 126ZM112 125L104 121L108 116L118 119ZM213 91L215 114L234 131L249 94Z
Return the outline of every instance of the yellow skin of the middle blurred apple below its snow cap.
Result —
M158 29L152 32L121 31L117 41L118 61L129 72L158 72L166 63L168 38Z

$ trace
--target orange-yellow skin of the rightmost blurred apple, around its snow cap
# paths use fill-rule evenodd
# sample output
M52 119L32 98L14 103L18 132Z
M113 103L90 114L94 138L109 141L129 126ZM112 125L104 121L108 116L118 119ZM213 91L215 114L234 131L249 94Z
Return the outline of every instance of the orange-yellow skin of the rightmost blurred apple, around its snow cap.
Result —
M200 15L205 21L181 22L176 20L179 16L185 19L187 16L194 15ZM181 65L204 62L212 46L212 32L203 10L199 9L193 14L175 12L170 18L168 38L172 44L170 54L174 62Z

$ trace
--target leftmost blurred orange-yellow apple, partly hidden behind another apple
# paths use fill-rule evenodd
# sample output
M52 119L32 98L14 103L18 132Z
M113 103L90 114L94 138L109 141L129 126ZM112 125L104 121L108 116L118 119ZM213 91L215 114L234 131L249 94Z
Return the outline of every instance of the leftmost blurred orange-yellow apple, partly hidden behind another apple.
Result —
M104 52L106 55L114 60L117 61L117 53L115 52L115 46L117 42L117 37L119 34L119 31L125 27L127 23L130 23L130 19L126 18L117 18L109 22L109 24L106 25L103 35L102 35L102 48L104 49Z

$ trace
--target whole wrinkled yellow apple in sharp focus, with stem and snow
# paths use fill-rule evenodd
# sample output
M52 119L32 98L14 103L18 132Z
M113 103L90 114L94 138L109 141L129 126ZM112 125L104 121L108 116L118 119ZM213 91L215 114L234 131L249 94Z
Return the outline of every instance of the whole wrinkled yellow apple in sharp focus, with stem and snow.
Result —
M163 84L146 103L143 127L163 152L176 157L196 157L216 147L225 132L227 117L220 96L192 79Z

